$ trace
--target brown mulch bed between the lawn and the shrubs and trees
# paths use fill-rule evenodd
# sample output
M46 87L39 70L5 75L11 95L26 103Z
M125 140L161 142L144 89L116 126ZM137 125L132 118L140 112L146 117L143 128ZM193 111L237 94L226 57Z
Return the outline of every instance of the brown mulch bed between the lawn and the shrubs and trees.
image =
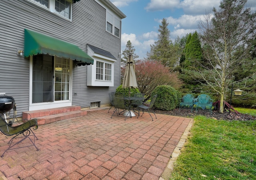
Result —
M154 109L155 113L158 114L164 114L164 115L171 115L171 116L180 116L180 117L194 117L197 115L204 115L206 117L210 117L212 119L216 119L216 120L226 120L226 121L233 121L233 120L237 120L237 121L254 121L256 120L255 116L252 115L246 115L246 114L236 114L234 112L230 112L230 115L228 113L228 111L225 111L224 113L219 113L216 110L212 111L212 115L205 110L198 110L198 112L196 112L195 110L191 112L191 109L174 109L172 111L161 111L161 110L156 110Z

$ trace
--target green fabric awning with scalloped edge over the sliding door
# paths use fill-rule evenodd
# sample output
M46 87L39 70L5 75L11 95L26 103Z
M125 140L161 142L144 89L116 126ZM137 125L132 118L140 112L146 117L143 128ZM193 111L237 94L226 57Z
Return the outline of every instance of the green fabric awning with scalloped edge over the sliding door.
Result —
M93 59L78 46L40 34L24 30L24 56L49 54L80 61L82 65L93 64Z

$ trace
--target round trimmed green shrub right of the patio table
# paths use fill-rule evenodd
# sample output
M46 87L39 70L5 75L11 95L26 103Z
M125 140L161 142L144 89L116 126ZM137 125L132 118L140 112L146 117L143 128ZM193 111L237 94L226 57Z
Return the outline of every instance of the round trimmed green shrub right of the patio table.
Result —
M163 111L171 111L178 106L181 94L170 85L157 86L151 97L157 94L154 107Z

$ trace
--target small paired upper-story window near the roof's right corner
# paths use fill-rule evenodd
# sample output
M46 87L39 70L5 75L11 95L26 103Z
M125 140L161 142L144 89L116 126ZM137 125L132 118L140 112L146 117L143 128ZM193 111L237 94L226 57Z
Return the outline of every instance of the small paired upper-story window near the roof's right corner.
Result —
M114 34L115 36L120 37L120 21L121 19L110 12L106 13L106 31Z

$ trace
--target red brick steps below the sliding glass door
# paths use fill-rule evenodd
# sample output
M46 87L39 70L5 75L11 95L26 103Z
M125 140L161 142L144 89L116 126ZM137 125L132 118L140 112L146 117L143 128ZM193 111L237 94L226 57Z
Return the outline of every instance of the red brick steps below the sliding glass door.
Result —
M87 111L81 110L80 106L68 106L22 113L22 119L36 118L38 125L45 125L56 121L62 121L73 117L87 115Z

